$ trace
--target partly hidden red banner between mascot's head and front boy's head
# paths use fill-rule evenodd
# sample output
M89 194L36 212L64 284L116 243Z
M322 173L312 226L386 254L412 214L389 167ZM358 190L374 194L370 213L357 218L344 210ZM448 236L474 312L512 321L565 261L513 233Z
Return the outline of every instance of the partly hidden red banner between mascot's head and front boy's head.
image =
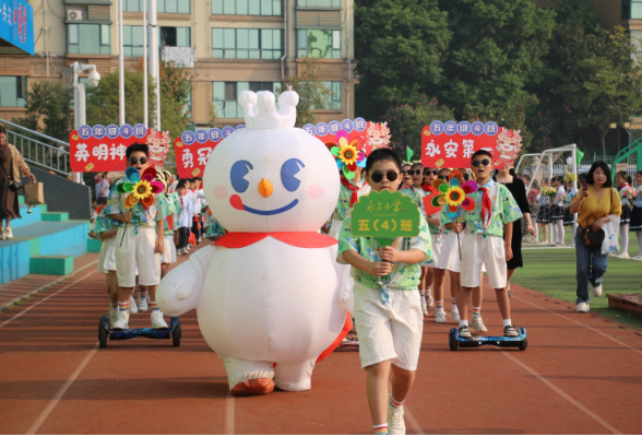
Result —
M348 134L348 142L359 139L360 143L369 155L376 149L390 147L390 128L388 123L376 123L366 121L362 118L355 120L331 121L329 123L320 122L317 126L306 125L304 130L317 137L323 143L335 142L336 133L345 131Z

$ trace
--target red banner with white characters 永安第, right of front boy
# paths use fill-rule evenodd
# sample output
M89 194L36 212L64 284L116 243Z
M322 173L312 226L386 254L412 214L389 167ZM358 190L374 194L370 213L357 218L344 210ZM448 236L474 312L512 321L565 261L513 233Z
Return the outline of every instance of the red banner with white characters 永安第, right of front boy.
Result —
M498 155L499 126L495 121L432 121L421 132L421 164L437 168L469 168L479 150Z

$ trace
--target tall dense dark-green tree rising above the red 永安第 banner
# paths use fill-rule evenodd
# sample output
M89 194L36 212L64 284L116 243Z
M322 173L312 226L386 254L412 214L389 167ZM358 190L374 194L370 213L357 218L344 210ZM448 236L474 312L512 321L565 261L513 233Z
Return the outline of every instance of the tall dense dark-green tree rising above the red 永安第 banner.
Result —
M534 0L440 0L452 32L437 94L462 117L466 106L526 108L540 78L555 14Z

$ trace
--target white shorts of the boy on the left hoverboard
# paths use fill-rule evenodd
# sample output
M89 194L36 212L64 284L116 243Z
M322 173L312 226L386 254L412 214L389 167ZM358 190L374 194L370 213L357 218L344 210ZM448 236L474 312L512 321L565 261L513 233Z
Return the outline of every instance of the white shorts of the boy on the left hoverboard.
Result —
M118 229L117 240L122 239L124 227ZM154 286L160 283L160 253L154 251L156 245L156 229L139 227L138 235L133 226L128 226L127 235L116 246L116 272L118 285L131 288L136 285L136 269L139 284Z

